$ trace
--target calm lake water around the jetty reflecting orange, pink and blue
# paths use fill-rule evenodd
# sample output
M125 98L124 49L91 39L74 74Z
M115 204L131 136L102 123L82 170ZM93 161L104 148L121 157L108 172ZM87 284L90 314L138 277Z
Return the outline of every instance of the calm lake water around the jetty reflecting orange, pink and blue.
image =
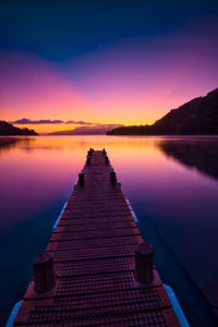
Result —
M107 149L161 278L192 325L210 326L201 292L218 307L216 137L0 137L0 322L22 299L89 147Z

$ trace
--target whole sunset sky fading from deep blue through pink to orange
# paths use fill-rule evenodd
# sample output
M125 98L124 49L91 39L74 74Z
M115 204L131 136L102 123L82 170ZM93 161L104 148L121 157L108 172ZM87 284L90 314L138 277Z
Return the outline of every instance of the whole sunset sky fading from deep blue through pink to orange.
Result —
M153 123L218 87L218 2L5 1L0 47L1 120Z

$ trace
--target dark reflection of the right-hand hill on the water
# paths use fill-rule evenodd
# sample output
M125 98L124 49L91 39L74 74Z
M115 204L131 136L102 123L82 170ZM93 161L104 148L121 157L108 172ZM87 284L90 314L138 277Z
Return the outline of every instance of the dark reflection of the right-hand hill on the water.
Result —
M167 156L218 179L217 140L169 140L158 145Z

